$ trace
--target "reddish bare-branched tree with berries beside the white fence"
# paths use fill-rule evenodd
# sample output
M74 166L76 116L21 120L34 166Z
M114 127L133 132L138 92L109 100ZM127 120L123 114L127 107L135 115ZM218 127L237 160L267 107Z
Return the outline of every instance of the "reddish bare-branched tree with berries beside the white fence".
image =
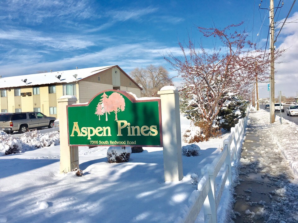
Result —
M182 42L178 42L182 56L164 56L178 72L178 77L183 79L183 90L187 91L191 107L209 126L228 96L247 94L256 74L260 81L268 78L269 53L256 49L255 44L247 41L246 31L228 33L231 28L242 24L232 24L222 30L197 27L205 37L219 39L221 47L215 46L209 51L200 45L197 49L189 38L186 44L188 50ZM276 50L275 56L278 58L282 52Z

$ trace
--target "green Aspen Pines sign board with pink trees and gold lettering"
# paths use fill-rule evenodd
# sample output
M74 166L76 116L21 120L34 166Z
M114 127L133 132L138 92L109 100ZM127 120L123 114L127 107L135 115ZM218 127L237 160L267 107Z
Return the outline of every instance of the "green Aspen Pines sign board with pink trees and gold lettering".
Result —
M107 90L67 106L70 146L162 146L160 99Z

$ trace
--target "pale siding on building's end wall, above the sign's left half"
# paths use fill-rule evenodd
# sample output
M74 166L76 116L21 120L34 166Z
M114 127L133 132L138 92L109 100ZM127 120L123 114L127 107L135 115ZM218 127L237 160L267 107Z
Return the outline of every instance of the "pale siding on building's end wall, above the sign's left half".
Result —
M92 83L88 81L79 82L80 103L89 102L95 95L103 90L112 90L113 85Z

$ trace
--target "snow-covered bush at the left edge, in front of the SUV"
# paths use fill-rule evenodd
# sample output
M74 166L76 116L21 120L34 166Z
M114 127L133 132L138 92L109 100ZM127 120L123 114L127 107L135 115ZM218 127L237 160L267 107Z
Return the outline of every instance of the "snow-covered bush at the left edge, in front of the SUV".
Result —
M19 153L22 149L20 139L13 138L4 132L0 132L0 155Z

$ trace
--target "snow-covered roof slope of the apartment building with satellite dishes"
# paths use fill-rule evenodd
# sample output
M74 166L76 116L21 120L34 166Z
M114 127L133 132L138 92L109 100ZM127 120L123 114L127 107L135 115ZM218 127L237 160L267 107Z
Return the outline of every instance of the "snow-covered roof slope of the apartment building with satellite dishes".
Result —
M20 76L13 76L13 77L2 77L0 78L0 88L46 85L46 84L55 84L55 83L71 83L74 81L79 81L81 79L84 79L93 74L102 72L104 70L107 70L115 66L116 65L28 74L28 75L20 75Z

